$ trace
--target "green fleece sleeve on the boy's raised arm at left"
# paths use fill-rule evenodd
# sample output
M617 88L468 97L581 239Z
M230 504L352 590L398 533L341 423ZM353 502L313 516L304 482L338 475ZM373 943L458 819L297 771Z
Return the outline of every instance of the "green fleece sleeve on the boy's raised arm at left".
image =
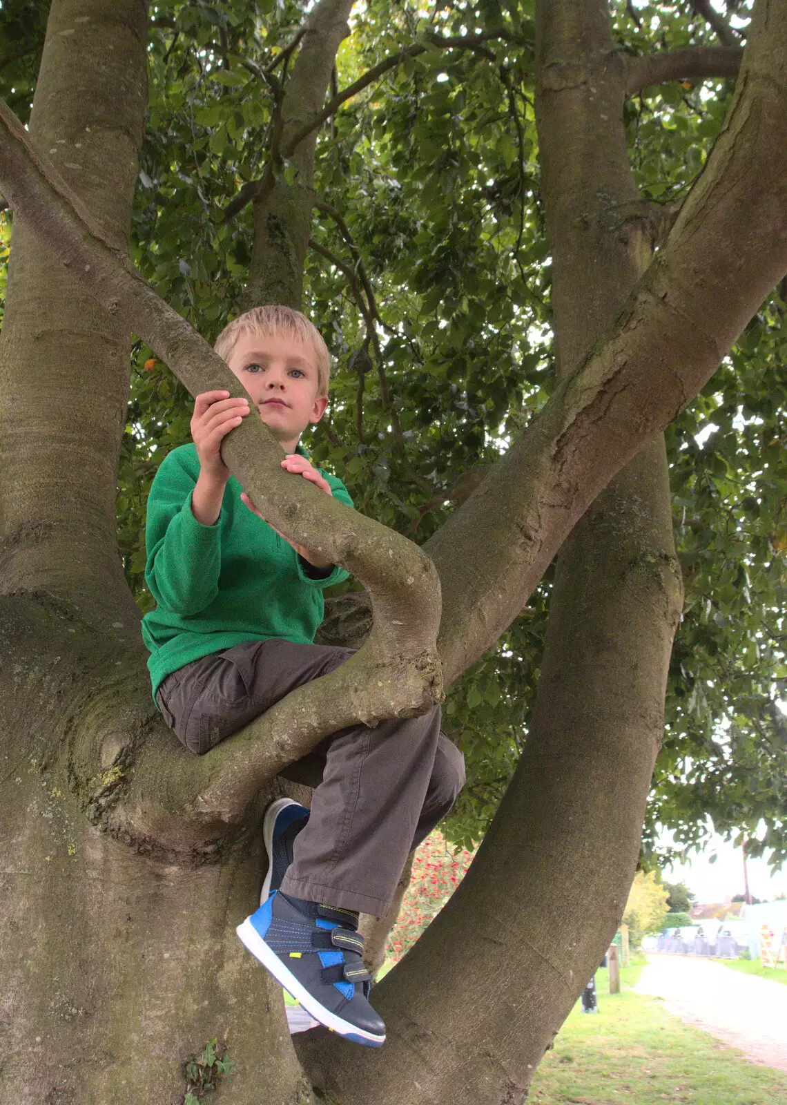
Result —
M159 607L197 614L219 593L221 530L191 513L197 473L179 450L164 459L147 504L145 581Z

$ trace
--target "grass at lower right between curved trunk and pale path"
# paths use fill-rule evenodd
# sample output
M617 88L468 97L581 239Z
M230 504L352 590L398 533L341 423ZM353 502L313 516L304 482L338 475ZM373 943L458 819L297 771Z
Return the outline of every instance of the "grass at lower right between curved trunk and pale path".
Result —
M633 993L642 964L621 970L622 992L596 976L599 1012L579 1004L536 1071L528 1105L784 1105L787 1073L671 1017L658 998Z

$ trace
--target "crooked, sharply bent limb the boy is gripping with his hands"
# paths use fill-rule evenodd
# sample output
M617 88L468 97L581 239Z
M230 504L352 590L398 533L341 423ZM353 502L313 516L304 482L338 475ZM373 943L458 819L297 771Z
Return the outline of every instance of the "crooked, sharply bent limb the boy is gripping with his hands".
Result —
M38 154L2 103L0 186L15 214L106 311L122 318L128 330L172 368L192 394L216 388L245 394L224 361L159 299L127 256L106 241L84 204ZM237 820L265 778L322 737L358 720L374 724L422 713L441 694L434 649L440 587L431 561L418 546L305 481L288 478L280 464L281 446L259 420L246 420L228 435L222 454L276 529L342 565L364 583L375 621L366 645L347 664L295 692L288 706L280 703L265 715L275 722L276 711L284 708L294 724L271 729L270 741L262 745L259 727L253 725L235 735L222 755L212 758L209 787L203 769L193 768L191 779L199 789L190 791L192 812L211 824L217 819ZM145 778L145 753L137 770L138 778ZM182 761L178 776L182 781ZM149 812L147 799L143 804Z

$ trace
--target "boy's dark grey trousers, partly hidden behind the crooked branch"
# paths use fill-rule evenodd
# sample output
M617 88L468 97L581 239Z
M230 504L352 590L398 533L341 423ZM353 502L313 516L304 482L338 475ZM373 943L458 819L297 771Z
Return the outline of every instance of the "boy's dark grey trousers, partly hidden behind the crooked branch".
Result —
M183 745L207 753L351 654L329 645L248 641L174 672L156 702ZM436 706L421 717L343 729L282 775L315 788L282 891L379 917L390 908L408 853L464 786L464 758L440 732Z

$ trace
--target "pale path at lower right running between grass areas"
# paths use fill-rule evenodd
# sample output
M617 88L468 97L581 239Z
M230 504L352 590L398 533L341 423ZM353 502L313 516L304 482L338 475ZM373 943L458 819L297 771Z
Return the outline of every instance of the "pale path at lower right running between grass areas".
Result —
M694 956L650 955L634 989L755 1063L787 1071L787 986Z

